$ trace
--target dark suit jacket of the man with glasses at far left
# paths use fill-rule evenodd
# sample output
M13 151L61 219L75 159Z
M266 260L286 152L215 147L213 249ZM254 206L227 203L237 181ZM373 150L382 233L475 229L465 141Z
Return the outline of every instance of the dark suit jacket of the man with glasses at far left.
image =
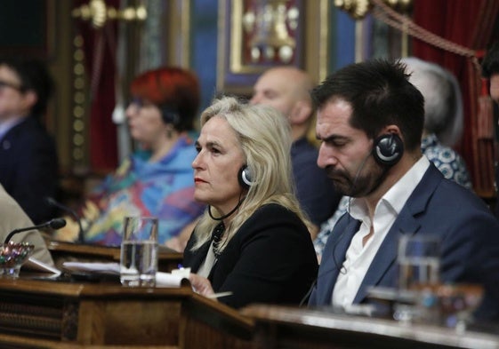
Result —
M0 183L35 224L53 218L44 198L56 194L57 153L34 117L28 116L0 139Z

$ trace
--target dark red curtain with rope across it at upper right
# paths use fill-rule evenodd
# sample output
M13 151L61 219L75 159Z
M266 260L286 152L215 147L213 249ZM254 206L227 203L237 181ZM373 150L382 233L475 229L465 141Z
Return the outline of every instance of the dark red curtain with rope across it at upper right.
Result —
M484 50L493 41L491 36L498 11L497 0L414 0L414 22L417 25L472 50ZM447 67L456 75L463 92L464 107L463 139L456 150L463 155L471 171L477 194L494 196L494 141L477 136L479 66L473 63L473 59L415 38L413 54Z

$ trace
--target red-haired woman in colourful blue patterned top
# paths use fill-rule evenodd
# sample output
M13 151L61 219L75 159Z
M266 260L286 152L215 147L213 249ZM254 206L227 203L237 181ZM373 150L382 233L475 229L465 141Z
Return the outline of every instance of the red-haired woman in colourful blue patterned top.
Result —
M126 117L138 149L85 202L84 240L119 245L125 216L154 216L158 242L183 250L179 234L205 208L194 201L190 166L197 155L190 137L200 99L197 77L162 67L135 77L130 91ZM58 238L77 236L64 234Z

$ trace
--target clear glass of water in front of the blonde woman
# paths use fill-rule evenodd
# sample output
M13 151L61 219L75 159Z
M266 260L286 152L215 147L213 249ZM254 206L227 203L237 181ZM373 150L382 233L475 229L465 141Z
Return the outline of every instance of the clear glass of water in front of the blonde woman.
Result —
M125 217L120 281L124 286L152 287L157 273L157 218Z

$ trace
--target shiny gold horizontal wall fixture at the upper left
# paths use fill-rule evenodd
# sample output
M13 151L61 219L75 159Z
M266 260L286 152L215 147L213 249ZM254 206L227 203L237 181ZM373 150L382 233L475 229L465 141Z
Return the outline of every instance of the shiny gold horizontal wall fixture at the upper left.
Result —
M75 18L90 21L93 28L102 28L109 20L144 21L148 17L148 12L144 4L117 10L112 6L107 6L104 0L90 0L88 4L76 7L72 15Z

